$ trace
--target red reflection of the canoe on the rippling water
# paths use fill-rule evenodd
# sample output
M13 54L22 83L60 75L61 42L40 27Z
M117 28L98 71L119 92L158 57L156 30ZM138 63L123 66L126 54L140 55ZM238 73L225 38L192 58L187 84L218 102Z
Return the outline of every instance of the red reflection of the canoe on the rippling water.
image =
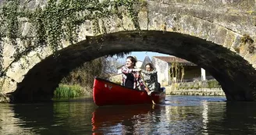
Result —
M93 112L92 130L94 134L101 133L149 133L154 123L159 119L149 121L155 112L161 111L158 105L126 105L99 107ZM152 123L153 122L153 123ZM147 126L147 128L141 128ZM135 131L135 132L134 132Z

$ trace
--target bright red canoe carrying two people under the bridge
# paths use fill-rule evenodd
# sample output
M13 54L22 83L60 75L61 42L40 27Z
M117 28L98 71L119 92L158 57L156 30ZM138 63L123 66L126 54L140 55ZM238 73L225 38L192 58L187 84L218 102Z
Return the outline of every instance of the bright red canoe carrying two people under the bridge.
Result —
M103 105L162 104L165 102L165 88L162 92L153 92L148 96L146 91L123 87L98 77L94 78L94 103Z

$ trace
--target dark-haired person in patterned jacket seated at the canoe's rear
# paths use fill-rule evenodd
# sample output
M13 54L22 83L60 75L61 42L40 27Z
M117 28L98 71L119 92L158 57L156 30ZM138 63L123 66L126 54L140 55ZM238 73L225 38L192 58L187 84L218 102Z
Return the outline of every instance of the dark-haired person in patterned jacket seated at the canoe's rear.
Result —
M141 73L144 74L144 83L149 89L149 95L153 91L159 91L160 83L158 83L158 72L154 69L151 63L145 65L145 70L141 69Z

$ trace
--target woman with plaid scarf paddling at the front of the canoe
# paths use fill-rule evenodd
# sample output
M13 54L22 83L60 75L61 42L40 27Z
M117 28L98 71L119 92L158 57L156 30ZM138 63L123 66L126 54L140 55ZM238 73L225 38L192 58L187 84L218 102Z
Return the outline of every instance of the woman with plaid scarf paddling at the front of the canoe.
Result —
M126 65L122 68L123 73L123 86L130 87L137 90L147 91L148 94L151 94L147 87L144 86L144 83L140 76L141 69L136 68L137 59L133 56L126 57Z

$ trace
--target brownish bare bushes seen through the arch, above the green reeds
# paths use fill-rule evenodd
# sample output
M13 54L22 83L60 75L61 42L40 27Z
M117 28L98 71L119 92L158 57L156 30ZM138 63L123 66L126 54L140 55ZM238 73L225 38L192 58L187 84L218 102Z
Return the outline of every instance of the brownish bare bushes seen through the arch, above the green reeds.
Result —
M68 76L64 77L62 83L67 85L79 85L83 87L84 94L90 95L92 94L94 76L106 79L108 76L112 75L112 73L116 73L117 71L115 69L117 64L119 64L116 59L120 57L121 56L117 55L116 58L101 57L91 62L86 62L83 66L74 69Z

